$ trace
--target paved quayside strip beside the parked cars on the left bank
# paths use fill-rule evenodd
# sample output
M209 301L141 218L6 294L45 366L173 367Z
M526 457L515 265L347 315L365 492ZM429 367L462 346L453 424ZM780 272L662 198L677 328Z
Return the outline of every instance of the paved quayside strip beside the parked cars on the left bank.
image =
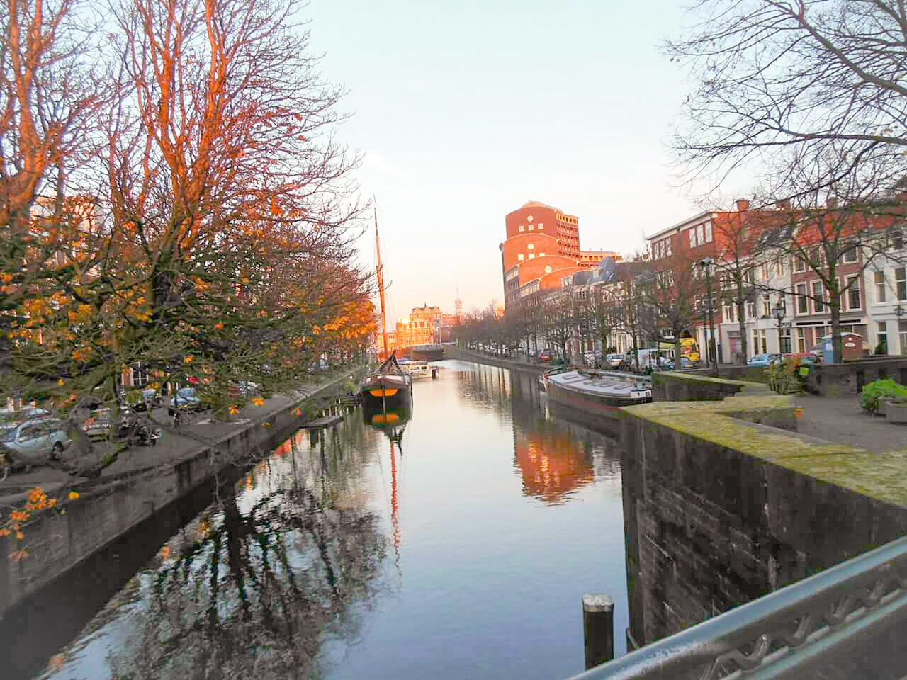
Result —
M154 409L151 418L156 423L161 423L163 436L156 446L135 446L128 451L120 452L117 460L103 468L103 477L116 477L131 471L143 470L156 465L173 464L208 442L216 441L226 434L239 432L249 427L250 419L258 420L271 413L278 413L288 409L307 396L317 393L330 384L338 383L348 377L347 371L334 371L323 377L313 379L310 384L299 385L292 393L275 394L261 406L247 406L235 416L236 420L230 423L209 423L210 414L199 413L189 416L190 422L173 428L171 419L167 415L166 407ZM64 467L78 466L80 469L90 469L96 466L104 454L111 452L115 443L95 442L89 456L81 454L73 444L69 450L63 452L61 463ZM28 472L17 472L9 475L5 481L0 481L0 514L5 508L14 505L24 498L24 492L34 487L41 487L50 493L73 485L83 479L82 476L72 472L54 469L53 467L37 467Z

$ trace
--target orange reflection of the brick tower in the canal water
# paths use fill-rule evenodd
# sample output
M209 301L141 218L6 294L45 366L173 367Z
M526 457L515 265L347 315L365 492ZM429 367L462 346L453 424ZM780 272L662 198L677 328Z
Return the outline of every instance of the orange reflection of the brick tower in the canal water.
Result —
M569 432L516 432L513 453L527 496L558 503L594 479L592 461Z

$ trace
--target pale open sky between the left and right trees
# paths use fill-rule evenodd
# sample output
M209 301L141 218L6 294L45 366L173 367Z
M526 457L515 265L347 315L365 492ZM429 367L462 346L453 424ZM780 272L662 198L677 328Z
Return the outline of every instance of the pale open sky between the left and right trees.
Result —
M700 211L668 149L691 85L659 50L681 0L312 0L313 53L364 155L388 321L414 306L503 301L504 216L540 200L580 247L632 253ZM374 267L374 233L360 240Z

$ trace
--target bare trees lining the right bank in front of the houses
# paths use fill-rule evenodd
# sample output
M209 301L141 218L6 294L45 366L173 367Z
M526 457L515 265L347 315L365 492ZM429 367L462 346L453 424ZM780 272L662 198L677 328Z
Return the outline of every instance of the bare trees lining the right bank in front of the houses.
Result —
M734 307L746 356L747 306L774 293L790 314L811 299L827 307L840 357L843 298L880 260L904 261L907 10L888 0L702 0L695 11L702 24L665 45L695 83L674 147L691 184L713 195L753 178L755 197L714 226L714 304ZM676 339L705 316L707 292L699 258L681 246L610 292L544 296L499 321L467 319L461 336L502 351L543 335L562 353L575 336L607 347L614 329ZM756 277L785 267L820 285L795 296L771 274Z

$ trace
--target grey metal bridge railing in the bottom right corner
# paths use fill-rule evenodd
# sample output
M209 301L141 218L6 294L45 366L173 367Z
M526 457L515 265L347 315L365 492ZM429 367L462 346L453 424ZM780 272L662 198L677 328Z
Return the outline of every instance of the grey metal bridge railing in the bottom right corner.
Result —
M595 666L571 680L805 677L907 619L907 537Z

